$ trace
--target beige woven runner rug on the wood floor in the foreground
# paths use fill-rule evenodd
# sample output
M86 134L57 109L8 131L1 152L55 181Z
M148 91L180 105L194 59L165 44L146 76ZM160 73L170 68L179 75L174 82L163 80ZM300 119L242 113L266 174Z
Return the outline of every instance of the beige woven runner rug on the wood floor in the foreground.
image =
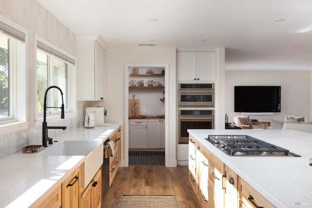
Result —
M178 208L175 195L122 195L118 208Z

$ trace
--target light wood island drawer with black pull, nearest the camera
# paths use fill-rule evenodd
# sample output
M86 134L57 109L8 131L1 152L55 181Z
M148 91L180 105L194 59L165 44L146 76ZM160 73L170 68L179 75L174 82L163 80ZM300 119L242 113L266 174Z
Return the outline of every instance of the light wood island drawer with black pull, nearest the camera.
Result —
M275 208L267 199L265 199L253 187L238 177L239 207L254 208L256 206L263 208Z

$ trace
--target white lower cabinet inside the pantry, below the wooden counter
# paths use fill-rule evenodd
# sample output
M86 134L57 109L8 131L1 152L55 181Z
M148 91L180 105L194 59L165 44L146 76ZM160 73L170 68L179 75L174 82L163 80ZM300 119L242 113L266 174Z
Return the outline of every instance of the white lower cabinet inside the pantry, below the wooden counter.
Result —
M130 148L165 148L164 119L130 119Z

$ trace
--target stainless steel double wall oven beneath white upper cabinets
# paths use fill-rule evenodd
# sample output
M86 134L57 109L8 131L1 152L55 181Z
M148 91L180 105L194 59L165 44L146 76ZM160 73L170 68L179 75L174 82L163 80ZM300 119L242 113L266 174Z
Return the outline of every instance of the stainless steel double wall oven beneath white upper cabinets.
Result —
M188 129L214 129L215 85L178 86L178 143L188 143Z

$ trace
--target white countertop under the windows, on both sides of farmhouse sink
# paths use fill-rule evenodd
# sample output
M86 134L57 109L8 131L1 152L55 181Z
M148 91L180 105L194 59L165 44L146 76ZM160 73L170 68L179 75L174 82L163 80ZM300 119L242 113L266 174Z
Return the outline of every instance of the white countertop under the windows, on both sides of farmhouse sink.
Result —
M106 140L119 124L65 130L53 141ZM53 130L50 130L53 131ZM49 147L58 145L54 142ZM49 148L47 147L47 148ZM46 148L44 148L46 149ZM84 161L84 156L36 156L16 152L0 159L0 208L37 207Z

